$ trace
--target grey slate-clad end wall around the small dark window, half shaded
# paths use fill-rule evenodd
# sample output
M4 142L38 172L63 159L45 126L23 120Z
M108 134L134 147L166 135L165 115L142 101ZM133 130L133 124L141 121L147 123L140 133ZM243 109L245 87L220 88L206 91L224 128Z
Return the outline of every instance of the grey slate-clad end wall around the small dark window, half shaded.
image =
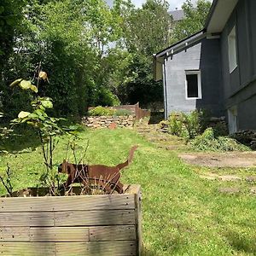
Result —
M186 99L185 71L201 70L202 99ZM166 60L167 115L207 108L215 116L223 114L220 46L218 39L204 38L186 51Z

